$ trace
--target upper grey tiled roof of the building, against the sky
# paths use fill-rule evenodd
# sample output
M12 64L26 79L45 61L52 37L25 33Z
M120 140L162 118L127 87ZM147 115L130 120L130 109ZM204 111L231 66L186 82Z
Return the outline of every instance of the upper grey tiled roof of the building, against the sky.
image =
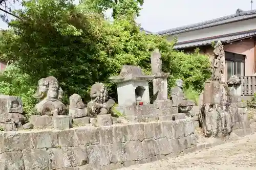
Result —
M224 16L221 18L212 19L212 20L208 20L200 23L195 23L193 25L160 31L160 32L157 32L156 34L157 35L174 35L174 34L179 34L187 31L219 26L226 23L246 20L246 19L255 18L255 17L256 17L256 10L240 11L240 12L237 12L236 14L232 14L232 15L228 15L228 16Z

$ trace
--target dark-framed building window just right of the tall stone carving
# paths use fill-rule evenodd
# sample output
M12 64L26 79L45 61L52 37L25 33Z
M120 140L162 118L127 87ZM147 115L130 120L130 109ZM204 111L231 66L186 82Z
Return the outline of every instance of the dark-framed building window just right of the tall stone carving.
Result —
M231 76L244 76L245 55L225 52L225 77L228 80Z

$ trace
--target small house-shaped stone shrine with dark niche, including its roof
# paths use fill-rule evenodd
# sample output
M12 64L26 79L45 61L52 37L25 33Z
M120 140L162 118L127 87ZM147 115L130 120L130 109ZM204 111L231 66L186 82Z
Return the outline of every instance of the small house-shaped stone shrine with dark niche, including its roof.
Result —
M154 78L144 75L139 66L123 65L119 76L109 78L117 83L119 107L150 104L148 81Z

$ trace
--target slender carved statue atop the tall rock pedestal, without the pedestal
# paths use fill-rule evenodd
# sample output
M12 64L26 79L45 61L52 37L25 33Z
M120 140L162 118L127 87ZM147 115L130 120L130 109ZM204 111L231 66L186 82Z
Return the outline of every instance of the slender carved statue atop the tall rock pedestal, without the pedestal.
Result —
M211 80L225 83L225 52L221 41L214 47L214 56L211 56Z

